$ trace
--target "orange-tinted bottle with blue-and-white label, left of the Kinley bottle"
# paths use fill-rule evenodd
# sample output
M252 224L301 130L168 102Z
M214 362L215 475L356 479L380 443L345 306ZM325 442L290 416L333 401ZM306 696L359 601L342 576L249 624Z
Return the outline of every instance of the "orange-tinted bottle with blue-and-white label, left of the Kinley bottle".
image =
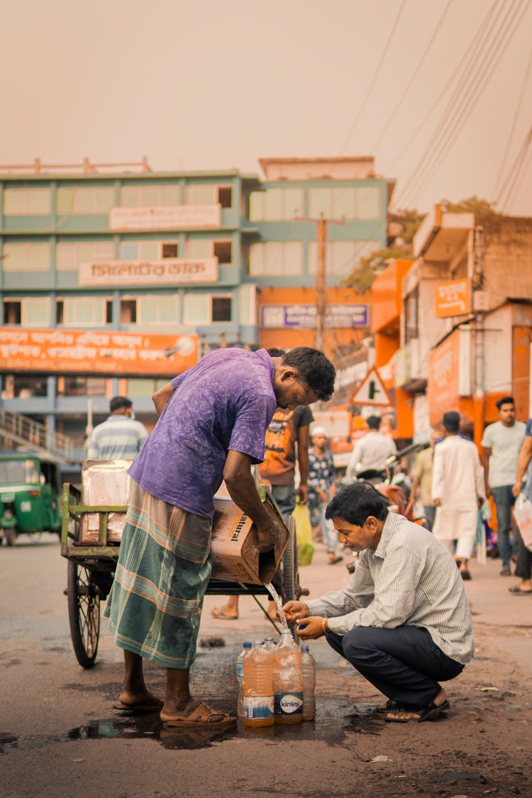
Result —
M244 658L244 725L274 725L274 687L271 680L272 654L254 642Z

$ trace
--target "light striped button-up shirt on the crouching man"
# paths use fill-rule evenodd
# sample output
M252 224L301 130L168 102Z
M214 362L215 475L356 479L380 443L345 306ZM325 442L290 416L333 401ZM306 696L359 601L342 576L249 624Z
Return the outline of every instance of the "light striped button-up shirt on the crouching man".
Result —
M447 548L424 527L388 513L375 550L365 549L343 591L305 602L329 629L419 626L456 662L473 658L473 624L463 580Z

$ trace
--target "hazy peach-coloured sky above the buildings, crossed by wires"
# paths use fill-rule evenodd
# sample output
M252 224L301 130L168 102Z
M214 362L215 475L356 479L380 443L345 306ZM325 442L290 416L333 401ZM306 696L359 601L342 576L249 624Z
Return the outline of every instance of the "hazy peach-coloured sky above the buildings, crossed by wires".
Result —
M396 209L532 215L531 31L532 0L19 0L0 164L372 155Z

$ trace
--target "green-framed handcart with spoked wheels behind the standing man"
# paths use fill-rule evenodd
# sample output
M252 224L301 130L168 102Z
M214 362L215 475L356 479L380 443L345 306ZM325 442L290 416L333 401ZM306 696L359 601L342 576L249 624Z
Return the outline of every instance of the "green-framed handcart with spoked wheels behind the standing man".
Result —
M108 540L108 516L110 513L125 513L127 509L124 505L81 504L81 491L68 482L63 485L61 556L68 560L65 594L74 654L84 668L92 668L96 662L100 638L100 602L107 599L111 590L120 551L120 543ZM83 543L80 539L81 519L85 513L97 513L99 516L97 543ZM289 531L290 537L279 569L279 584L285 601L299 599L309 592L301 589L299 583L294 519L290 519ZM210 595L250 595L262 610L264 607L257 596L269 596L262 585L226 582L222 579L211 579L206 592ZM275 622L271 622L277 629Z

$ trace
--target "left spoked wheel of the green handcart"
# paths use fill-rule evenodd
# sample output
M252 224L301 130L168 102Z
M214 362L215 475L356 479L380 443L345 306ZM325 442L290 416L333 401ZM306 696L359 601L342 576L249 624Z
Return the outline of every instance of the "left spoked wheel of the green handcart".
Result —
M88 568L69 560L67 580L70 636L77 662L92 668L100 637L100 591Z

